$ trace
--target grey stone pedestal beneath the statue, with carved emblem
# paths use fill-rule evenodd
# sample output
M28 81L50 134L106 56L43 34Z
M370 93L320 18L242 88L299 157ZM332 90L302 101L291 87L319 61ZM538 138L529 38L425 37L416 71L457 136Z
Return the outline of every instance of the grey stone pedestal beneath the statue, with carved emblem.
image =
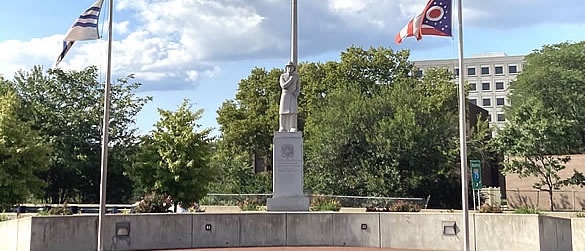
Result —
M309 211L303 193L303 134L275 132L272 168L272 198L268 211Z

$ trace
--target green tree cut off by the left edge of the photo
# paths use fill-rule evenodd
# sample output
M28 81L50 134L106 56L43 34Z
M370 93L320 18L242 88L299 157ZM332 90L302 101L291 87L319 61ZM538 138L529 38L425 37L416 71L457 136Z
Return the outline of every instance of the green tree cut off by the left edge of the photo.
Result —
M2 82L2 80L0 80ZM40 196L49 160L47 140L18 117L18 96L0 83L0 209Z

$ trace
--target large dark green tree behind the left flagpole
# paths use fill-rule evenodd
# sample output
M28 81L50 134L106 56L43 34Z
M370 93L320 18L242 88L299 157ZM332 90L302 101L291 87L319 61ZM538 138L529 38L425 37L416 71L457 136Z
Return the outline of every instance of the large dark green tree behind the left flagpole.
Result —
M96 67L81 71L40 67L20 71L11 82L22 98L20 116L49 138L54 148L48 170L45 196L51 203L65 199L83 203L99 201L101 135L103 122L103 83ZM123 78L112 83L110 155L107 197L124 202L130 197L131 182L122 175L125 157L136 144L135 116L150 97L138 97L139 83Z

